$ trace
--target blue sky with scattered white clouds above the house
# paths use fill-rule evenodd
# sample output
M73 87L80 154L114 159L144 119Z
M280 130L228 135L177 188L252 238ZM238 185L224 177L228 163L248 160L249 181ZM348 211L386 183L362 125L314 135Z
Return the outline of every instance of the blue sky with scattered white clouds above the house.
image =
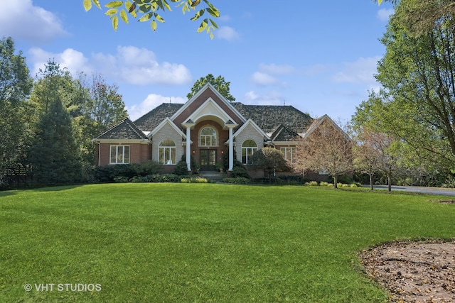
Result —
M0 3L0 35L14 38L33 77L49 59L73 75L100 73L118 85L132 119L163 102L184 103L193 83L211 73L225 77L244 104L292 105L346 122L379 87L379 39L393 12L373 0L213 0L221 17L210 40L180 8L163 13L156 32L136 20L114 31L82 0Z

